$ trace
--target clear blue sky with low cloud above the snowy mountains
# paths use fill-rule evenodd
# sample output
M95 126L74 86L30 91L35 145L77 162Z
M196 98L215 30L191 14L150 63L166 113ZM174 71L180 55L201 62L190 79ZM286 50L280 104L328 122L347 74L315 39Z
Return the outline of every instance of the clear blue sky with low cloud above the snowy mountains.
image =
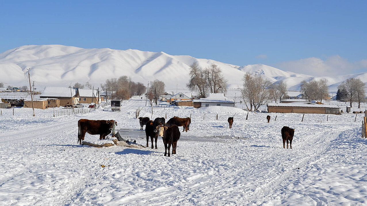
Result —
M367 71L367 1L1 2L0 52L62 44L311 75Z

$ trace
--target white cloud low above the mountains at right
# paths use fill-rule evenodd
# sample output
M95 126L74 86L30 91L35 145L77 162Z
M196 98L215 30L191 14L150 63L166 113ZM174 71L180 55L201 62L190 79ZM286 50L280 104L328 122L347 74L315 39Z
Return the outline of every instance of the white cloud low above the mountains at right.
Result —
M318 57L310 57L277 63L276 67L284 71L312 76L336 76L352 74L356 72L355 70L367 68L367 59L349 62L339 55L330 56L325 60Z

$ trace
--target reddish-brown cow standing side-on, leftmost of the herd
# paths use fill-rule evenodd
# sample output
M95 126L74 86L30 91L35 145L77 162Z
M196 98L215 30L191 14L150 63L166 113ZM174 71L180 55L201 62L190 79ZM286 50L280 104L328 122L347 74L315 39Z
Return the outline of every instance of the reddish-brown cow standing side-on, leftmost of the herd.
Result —
M106 139L106 136L112 131L113 123L116 123L116 121L80 119L78 121L79 144L81 144L81 141L84 140L86 132L91 135L99 135L99 139Z

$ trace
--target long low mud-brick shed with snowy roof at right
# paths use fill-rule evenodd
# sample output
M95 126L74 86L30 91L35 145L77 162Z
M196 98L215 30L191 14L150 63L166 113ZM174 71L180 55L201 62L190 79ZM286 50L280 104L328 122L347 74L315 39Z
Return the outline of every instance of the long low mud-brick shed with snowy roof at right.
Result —
M268 103L268 112L278 113L316 113L316 114L335 114L340 113L337 105L313 104L309 103Z

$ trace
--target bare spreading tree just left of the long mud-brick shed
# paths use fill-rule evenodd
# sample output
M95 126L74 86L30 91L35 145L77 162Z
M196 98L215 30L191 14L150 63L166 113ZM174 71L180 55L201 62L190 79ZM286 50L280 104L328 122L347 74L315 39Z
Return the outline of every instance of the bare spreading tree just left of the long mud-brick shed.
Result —
M268 87L271 82L263 79L259 75L252 75L247 72L243 76L243 88L241 93L243 100L249 111L256 111L261 105L265 104L270 99L270 92ZM248 108L250 106L250 108ZM254 110L252 110L254 108Z

